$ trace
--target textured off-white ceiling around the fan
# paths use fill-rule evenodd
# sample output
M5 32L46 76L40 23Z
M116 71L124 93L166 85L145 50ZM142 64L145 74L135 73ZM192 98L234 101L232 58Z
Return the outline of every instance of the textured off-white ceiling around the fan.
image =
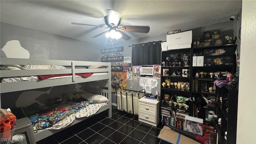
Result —
M105 26L107 9L120 12L121 25L150 26L147 34L126 32L132 39L189 30L226 22L238 14L241 0L1 0L1 22L98 43L106 40L106 28L74 25L71 22ZM123 39L121 38L120 41Z

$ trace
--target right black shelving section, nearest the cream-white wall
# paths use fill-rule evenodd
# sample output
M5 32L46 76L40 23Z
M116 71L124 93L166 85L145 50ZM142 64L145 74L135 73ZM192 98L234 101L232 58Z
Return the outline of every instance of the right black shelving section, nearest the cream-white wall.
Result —
M209 52L212 50L213 53L212 57L216 58L216 55L220 55L220 58L223 58L223 56L231 58L229 62L226 62L225 59L223 61L223 64L214 64L208 66L206 64L207 58L210 58ZM216 130L214 133L214 141L218 141L219 144L235 144L236 143L236 120L237 120L237 96L238 92L236 90L231 90L228 86L224 86L222 88L218 88L218 86L215 86L215 92L198 92L194 90L194 86L198 84L199 82L205 81L207 82L214 82L217 78L216 76L214 78L209 78L208 76L205 76L204 78L196 77L196 73L198 72L230 72L232 74L235 74L236 72L236 56L235 56L235 50L236 45L229 45L229 46L214 46L214 47L205 47L205 48L193 48L192 49L192 55L204 55L204 66L192 66L191 67L191 75L192 75L192 90L191 90L191 96L193 97L200 97L201 94L203 94L205 97L207 96L215 96L215 108L212 106L207 106L206 103L204 103L204 110L213 110L215 114L218 116L217 119L214 119L214 122L210 122L209 124L214 126L214 129ZM206 52L208 52L206 54ZM228 52L228 53L224 53ZM218 53L218 54L217 54ZM224 53L221 57L221 53ZM205 55L206 54L206 55ZM193 58L192 58L193 60ZM224 78L226 78L224 76ZM194 81L197 81L198 83L194 83ZM230 94L234 95L230 96ZM223 97L222 103L220 102L220 97ZM228 99L228 103L226 103L226 100ZM228 105L230 103L230 105ZM228 112L226 111L226 108L228 108ZM231 110L231 112L230 112ZM206 118L206 114L204 115L204 118ZM222 122L221 125L218 124L218 119L221 118ZM204 123L206 124L208 121L204 119ZM225 132L227 131L228 139L225 140ZM217 137L218 135L218 137ZM217 140L218 139L218 140Z

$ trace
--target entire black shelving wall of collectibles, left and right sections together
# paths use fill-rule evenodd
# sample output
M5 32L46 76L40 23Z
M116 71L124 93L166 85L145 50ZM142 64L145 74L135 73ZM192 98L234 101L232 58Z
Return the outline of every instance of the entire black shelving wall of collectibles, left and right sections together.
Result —
M236 62L235 62L235 49L236 49L236 45L229 45L229 46L213 46L213 47L204 47L204 48L185 48L185 49L177 49L177 50L167 50L167 51L162 51L161 53L161 59L162 62L165 62L164 64L170 64L167 60L166 57L172 57L172 62L175 61L176 58L176 54L179 54L180 56L180 61L181 61L181 65L180 66L166 66L166 65L162 65L161 70L162 70L162 76L161 76L161 100L163 100L164 98L164 94L169 94L170 96L176 94L176 95L182 95L185 98L190 98L193 99L195 101L186 101L186 104L188 104L189 108L188 110L186 110L185 108L179 108L178 106L169 106L172 110L183 110L184 112L188 112L188 114L190 116L195 116L198 118L202 118L204 119L204 124L208 125L208 126L213 126L215 133L214 133L214 138L211 141L216 142L217 140L217 134L218 134L218 142L220 144L234 144L236 143L236 120L237 120L237 94L238 92L229 89L228 86L223 87L226 89L220 91L220 89L218 89L217 86L215 86L214 81L217 79L216 74L214 74L213 77L210 77L209 74L206 74L204 76L198 76L196 75L196 73L199 72L230 72L232 74L235 74L236 72ZM216 50L216 54L222 54L224 51L230 52L230 53L226 53L223 56L228 56L229 58L231 58L228 63L222 64L221 62L218 64L214 64L214 65L205 65L203 64L203 66L192 66L192 62L193 62L193 55L200 55L203 56L204 55L204 51L206 50L206 52L209 52L209 50ZM218 50L218 51L217 51ZM220 51L219 51L220 50ZM182 55L189 55L190 56L190 66L184 66L183 60L182 60ZM215 57L216 55L213 54ZM204 60L207 60L209 55L204 56ZM206 58L205 58L206 57ZM213 57L213 56L212 56ZM209 58L211 58L211 56L209 56ZM222 60L222 59L221 59ZM225 60L225 59L224 59ZM171 63L172 64L172 63ZM167 69L169 72L168 76L164 76L164 72L163 69ZM174 71L180 70L182 71L182 69L188 69L190 70L189 72L189 76L188 77L182 77L182 76L173 76L172 73ZM168 87L163 87L162 83L165 82L166 78L170 78L171 82L189 82L189 89L186 91L180 91L179 89L175 89L175 88L168 88ZM196 81L196 82L195 82ZM197 86L197 87L196 87ZM212 87L213 90L210 90L209 87ZM228 112L226 112L226 107L225 105L220 104L218 102L220 94L232 94L232 95L236 95L234 97L232 97L231 99L229 99L230 105L228 106ZM208 100L208 102L210 102L212 100L212 102L210 104L208 104L206 102L206 100L203 99L203 96ZM175 98L175 97L173 97ZM176 101L175 99L173 99L174 102ZM224 100L225 101L225 100ZM198 104L198 102L201 102L200 104ZM231 104L232 102L232 104ZM168 107L167 104L162 104L161 106L166 106ZM200 107L199 109L196 109L196 107ZM196 111L195 111L196 110ZM230 111L231 110L231 111ZM198 112L199 111L199 112ZM218 125L218 119L210 119L208 120L207 118L207 114L206 112L214 112L214 114L218 115L219 117L223 118L223 122L222 125ZM209 113L210 113L209 112ZM208 114L209 114L208 113ZM212 115L214 115L212 114ZM232 119L232 120L230 120ZM172 128L173 130L175 130L176 132L179 132L181 134L184 134L185 136L188 136L190 138L193 138L193 136L191 136L190 132L186 132L184 130L181 130L179 128L176 128L174 126L170 126L170 128ZM225 132L228 132L228 140L225 140L224 136L225 136ZM193 135L193 134L192 134ZM212 138L212 136L211 136ZM194 138L193 138L194 139Z

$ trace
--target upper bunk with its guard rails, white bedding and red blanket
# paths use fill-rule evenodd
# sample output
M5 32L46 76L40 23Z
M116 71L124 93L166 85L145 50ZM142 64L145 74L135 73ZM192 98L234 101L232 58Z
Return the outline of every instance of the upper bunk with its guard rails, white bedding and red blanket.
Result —
M20 58L0 62L1 93L111 78L110 62Z

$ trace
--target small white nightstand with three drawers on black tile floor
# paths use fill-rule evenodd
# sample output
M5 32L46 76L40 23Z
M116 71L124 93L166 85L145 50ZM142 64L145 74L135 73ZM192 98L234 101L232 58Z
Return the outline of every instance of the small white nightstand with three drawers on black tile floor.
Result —
M160 102L148 98L139 99L139 121L152 126L157 126L159 123Z

